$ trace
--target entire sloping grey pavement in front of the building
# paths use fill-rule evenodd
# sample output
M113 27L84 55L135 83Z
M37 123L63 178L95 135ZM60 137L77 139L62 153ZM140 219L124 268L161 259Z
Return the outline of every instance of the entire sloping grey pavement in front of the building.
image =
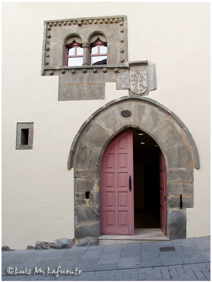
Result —
M175 251L159 249L171 246ZM210 237L2 252L2 275L4 281L210 280Z

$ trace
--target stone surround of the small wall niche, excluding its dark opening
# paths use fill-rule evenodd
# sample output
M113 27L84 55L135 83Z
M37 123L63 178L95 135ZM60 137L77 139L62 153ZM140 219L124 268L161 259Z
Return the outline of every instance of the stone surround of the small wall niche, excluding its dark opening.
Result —
M28 129L28 144L22 144L22 134L23 129ZM32 150L33 149L33 130L34 123L33 122L18 122L17 130L16 130L16 150Z

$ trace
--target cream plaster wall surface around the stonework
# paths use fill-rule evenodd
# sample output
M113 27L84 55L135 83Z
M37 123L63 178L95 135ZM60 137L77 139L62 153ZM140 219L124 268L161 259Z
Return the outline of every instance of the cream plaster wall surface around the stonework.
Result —
M197 145L187 237L209 235L209 3L3 3L2 244L74 237L72 140L98 108L128 91L106 83L105 100L58 101L58 77L41 76L44 20L126 15L129 61L156 64L149 93L188 127ZM111 14L112 13L112 14ZM15 150L17 122L34 122L33 150Z

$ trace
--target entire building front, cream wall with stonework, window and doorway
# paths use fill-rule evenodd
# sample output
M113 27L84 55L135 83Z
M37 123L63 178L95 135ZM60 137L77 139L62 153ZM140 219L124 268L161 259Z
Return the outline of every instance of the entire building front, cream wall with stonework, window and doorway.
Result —
M3 245L208 236L209 4L93 4L3 4Z

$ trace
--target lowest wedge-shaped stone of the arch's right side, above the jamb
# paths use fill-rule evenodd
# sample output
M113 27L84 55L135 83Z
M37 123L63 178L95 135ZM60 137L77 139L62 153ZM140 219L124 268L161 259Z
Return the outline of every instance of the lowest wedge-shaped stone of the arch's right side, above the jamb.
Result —
M188 167L192 162L192 154L186 145L180 145L165 150L168 160L167 168Z

